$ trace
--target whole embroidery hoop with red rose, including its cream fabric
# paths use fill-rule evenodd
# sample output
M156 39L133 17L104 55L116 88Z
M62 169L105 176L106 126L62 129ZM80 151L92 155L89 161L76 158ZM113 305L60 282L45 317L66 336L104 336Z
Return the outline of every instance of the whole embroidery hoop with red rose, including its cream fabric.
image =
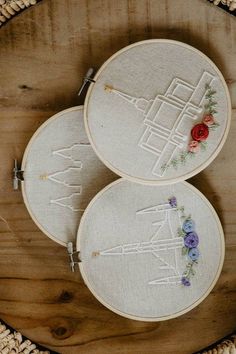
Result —
M166 39L134 43L109 58L93 80L86 131L98 157L119 176L153 185L188 179L214 160L226 140L228 88L215 64L191 46ZM209 134L214 116L220 129ZM205 153L197 154L206 137ZM181 168L168 168L180 162Z

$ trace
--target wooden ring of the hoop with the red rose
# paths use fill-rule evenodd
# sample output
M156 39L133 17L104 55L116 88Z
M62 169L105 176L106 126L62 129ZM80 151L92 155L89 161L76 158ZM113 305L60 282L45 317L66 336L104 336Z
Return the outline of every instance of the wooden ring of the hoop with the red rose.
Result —
M104 68L107 67L107 65L109 65L109 63L115 59L116 57L118 57L120 54L126 52L127 50L134 48L136 46L142 45L142 44L147 44L147 43L172 43L172 44L177 44L179 46L182 46L183 48L187 48L190 49L194 52L196 52L197 54L199 54L200 56L202 56L210 65L212 65L212 67L214 68L214 70L216 71L216 73L218 74L219 78L221 79L222 85L225 88L225 93L226 93L226 97L227 97L227 106L228 106L228 119L227 119L227 125L225 128L225 132L224 135L219 143L219 145L217 146L217 148L215 149L215 151L212 153L212 155L205 161L203 162L200 166L196 167L193 171L188 172L186 174L184 174L183 176L179 176L173 179L168 179L168 180L146 180L143 178L139 178L139 177L134 177L134 176L130 176L126 173L124 173L123 171L118 170L116 167L114 167L109 161L107 161L106 159L103 158L103 156L100 154L100 152L98 151L96 144L93 141L92 135L91 135L91 131L89 129L89 124L88 124L88 105L89 105L89 99L91 96L91 93L93 91L93 87L96 84L97 79L99 78L100 74L102 73L102 71L104 70ZM91 146L93 147L95 153L97 154L97 156L100 158L100 160L113 172L115 172L117 175L124 177L130 181L136 182L136 183L142 183L142 184L149 184L149 185L167 185L167 184L172 184L172 183L177 183L177 182L181 182L184 181L186 179L189 179L193 176L195 176L196 174L198 174L199 172L201 172L202 170L204 170L207 166L210 165L210 163L217 157L217 155L219 154L219 152L221 151L228 133L229 133L229 128L230 128L230 123L231 123L231 100L230 100L230 96L229 96L229 91L228 91L228 87L225 83L225 79L222 75L222 73L220 72L220 70L217 68L217 66L213 63L213 61L211 61L210 58L208 58L204 53L202 53L200 50L179 42L179 41L175 41L175 40L170 40L170 39L148 39L148 40L144 40L144 41L140 41L140 42L136 42L133 43L129 46L124 47L123 49L119 50L118 52L116 52L115 54L113 54L107 61L105 61L105 63L101 66L101 68L98 70L98 72L96 73L96 75L94 76L94 81L92 82L89 86L86 98L85 98L85 103L84 103L84 122L85 122L85 129L90 141Z

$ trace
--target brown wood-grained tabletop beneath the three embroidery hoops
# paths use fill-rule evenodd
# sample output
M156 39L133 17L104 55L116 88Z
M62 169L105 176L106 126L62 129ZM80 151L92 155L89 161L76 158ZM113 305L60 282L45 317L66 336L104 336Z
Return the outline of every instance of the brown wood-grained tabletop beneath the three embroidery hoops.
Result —
M66 250L47 238L12 190L35 130L52 114L83 103L89 66L148 38L184 41L207 54L228 83L233 119L215 161L191 180L216 208L226 238L222 275L202 304L160 323L122 318L72 274ZM60 353L185 354L229 334L236 294L236 22L205 0L43 0L0 29L0 318Z

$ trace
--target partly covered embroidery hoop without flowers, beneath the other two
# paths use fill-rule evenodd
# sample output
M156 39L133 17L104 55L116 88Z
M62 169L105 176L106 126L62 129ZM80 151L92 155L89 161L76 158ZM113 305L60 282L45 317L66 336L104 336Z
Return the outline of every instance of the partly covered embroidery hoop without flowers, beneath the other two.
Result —
M89 144L83 106L59 112L40 126L25 150L20 170L22 194L32 219L63 246L75 243L87 204L116 178Z

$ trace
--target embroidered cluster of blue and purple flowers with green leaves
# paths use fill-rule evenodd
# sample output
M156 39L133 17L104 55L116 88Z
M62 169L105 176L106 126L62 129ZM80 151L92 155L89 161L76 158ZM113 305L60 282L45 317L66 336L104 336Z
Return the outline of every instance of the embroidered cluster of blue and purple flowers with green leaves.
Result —
M169 204L172 208L176 208L181 213L182 227L178 229L178 236L183 237L182 255L186 256L188 263L182 274L181 283L184 286L190 286L190 279L195 275L194 266L198 263L200 255L198 244L199 238L195 231L195 222L191 215L185 215L184 206L178 207L176 197L169 198Z

